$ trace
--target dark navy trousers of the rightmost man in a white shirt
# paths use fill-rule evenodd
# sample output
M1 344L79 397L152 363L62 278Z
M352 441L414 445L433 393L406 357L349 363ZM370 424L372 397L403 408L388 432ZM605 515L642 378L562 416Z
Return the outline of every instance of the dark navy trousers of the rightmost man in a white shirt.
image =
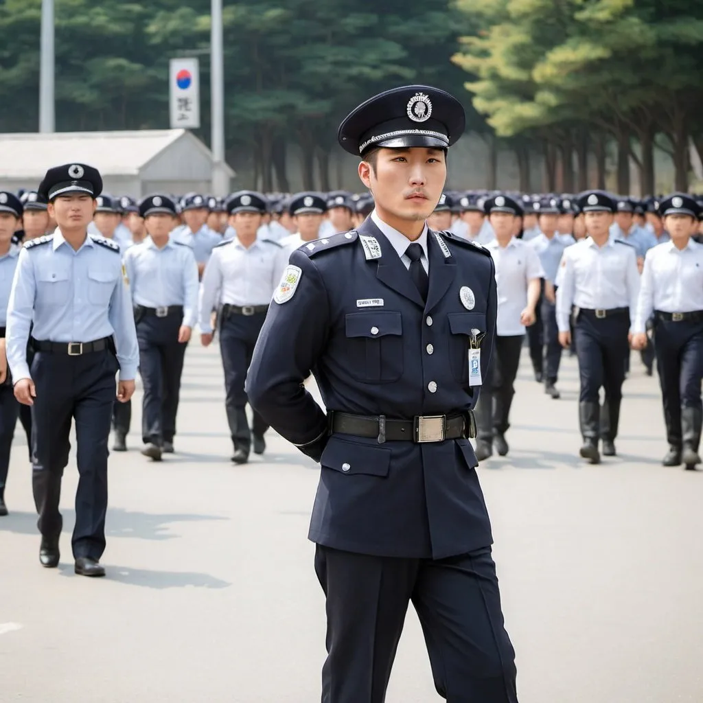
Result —
M657 319L654 329L666 439L681 447L681 408L702 408L703 322Z

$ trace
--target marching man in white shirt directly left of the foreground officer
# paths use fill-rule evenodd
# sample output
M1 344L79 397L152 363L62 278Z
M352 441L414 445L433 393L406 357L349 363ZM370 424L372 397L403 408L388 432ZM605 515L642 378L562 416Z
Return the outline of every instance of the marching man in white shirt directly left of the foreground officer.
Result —
M200 339L212 342L212 309L219 310L220 354L224 368L227 422L234 445L232 460L243 464L254 453L266 450L264 434L269 425L254 411L250 430L244 381L254 344L264 324L288 252L279 243L257 237L266 198L262 193L239 191L226 203L236 237L214 248L202 276L199 315Z

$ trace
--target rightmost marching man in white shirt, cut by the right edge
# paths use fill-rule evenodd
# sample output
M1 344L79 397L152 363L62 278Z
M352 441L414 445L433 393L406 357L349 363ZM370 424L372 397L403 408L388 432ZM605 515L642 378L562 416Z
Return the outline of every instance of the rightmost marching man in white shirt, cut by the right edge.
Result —
M669 452L664 466L694 470L703 424L703 245L691 238L700 208L690 195L673 193L659 205L671 240L645 257L632 345L647 344L647 321L654 314L659 385Z

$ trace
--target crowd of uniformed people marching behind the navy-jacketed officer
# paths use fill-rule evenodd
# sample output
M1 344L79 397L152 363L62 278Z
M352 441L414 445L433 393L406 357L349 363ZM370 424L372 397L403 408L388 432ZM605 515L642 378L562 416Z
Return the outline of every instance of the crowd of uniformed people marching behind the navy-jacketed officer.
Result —
M496 267L494 356L475 411L478 460L509 451L523 348L553 399L562 352L576 354L580 454L591 463L614 456L621 389L630 349L638 349L648 375L657 362L664 465L700 462L702 206L684 193L443 193L428 226L485 247ZM264 453L268 425L255 410L247 420L245 378L290 254L361 226L373 210L369 193L347 191L161 193L136 202L103 193L100 174L82 164L50 169L36 191L0 191L0 515L19 418L45 566L58 562L71 420L77 505L86 506L77 510L73 550L77 572L99 575L108 432L112 450L127 451L139 373L141 453L161 460L176 451L183 359L196 325L206 347L219 333L231 459ZM470 299L462 302L471 309ZM105 307L107 318L97 311ZM90 353L103 350L111 353Z

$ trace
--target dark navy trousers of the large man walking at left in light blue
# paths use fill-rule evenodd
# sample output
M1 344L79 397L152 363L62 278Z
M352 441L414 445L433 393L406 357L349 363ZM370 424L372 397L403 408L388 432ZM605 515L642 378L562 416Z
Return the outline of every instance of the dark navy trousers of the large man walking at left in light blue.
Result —
M79 473L72 537L76 558L100 559L105 550L108 435L118 367L115 354L107 349L81 356L37 352L32 362L37 389L32 406L32 490L39 513L37 527L49 537L58 537L63 527L58 505L74 420Z

